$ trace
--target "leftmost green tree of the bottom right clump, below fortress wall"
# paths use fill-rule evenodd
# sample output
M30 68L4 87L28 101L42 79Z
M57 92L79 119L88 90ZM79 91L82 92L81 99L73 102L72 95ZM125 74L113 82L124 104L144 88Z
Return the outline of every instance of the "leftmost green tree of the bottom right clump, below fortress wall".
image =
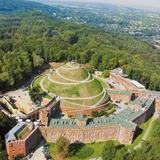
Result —
M106 142L102 151L103 160L113 160L116 155L116 146L113 141Z

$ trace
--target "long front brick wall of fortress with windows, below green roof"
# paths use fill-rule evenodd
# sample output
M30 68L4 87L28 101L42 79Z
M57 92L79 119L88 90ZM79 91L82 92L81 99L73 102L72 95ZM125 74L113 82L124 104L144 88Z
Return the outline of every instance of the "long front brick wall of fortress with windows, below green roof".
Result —
M132 129L126 129L120 125L105 127L83 128L50 128L41 127L40 131L48 142L55 142L60 136L65 136L71 143L76 141L83 143L103 142L107 140L119 140L124 144L131 144L134 137Z

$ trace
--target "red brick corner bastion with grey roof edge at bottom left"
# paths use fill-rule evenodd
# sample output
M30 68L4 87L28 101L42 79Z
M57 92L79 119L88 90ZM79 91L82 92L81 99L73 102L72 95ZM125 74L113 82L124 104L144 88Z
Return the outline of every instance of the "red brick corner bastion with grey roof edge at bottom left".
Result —
M25 157L37 147L40 141L39 127L35 126L24 138L17 137L18 132L24 129L26 123L21 122L5 135L6 149L9 160L16 157Z

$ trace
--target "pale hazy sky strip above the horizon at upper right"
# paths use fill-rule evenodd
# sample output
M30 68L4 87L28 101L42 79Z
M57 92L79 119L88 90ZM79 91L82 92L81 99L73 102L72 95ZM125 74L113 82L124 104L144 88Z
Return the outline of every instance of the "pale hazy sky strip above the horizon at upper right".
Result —
M53 0L54 1L54 0ZM64 0L71 1L71 0ZM141 7L156 7L160 8L160 0L72 0L81 2L103 2L103 3L113 3L113 4L124 4L124 5L134 5Z

